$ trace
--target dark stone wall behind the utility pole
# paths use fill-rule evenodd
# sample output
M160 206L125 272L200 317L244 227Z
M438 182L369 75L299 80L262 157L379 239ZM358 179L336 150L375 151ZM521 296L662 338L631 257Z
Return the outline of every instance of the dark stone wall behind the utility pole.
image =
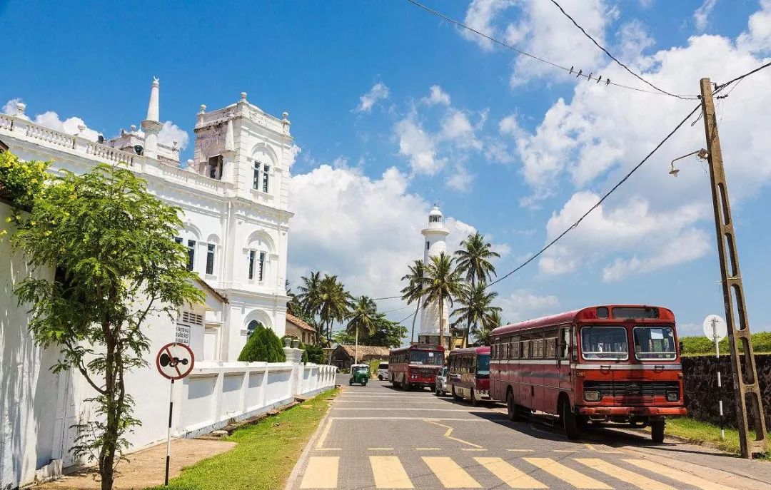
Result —
M729 355L720 356L720 375L722 377L723 414L726 425L736 427L736 398L733 393L733 377L731 374L731 359ZM744 358L742 357L742 364ZM766 427L771 427L771 354L756 354L756 369L760 381L761 401L766 412ZM685 388L685 407L689 416L702 421L718 424L720 413L718 408L717 361L715 356L693 356L682 358L682 372ZM749 414L749 424L752 427L752 414Z

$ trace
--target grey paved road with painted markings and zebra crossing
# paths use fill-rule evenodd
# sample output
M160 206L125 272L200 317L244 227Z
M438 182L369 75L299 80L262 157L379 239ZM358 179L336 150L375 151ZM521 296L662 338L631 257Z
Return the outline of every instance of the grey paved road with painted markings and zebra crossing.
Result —
M547 420L510 422L429 391L345 387L295 468L298 488L771 488L771 463L592 429L568 441Z

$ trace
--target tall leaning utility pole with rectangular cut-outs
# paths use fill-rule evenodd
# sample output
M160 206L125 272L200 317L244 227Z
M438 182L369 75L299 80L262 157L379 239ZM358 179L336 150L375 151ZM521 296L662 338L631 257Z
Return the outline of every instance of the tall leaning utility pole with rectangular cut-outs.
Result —
M722 275L723 304L726 307L729 348L731 350L731 371L736 397L736 423L739 425L739 441L742 458L752 458L753 454L766 451L766 419L763 416L763 404L755 368L755 353L752 350L752 337L749 333L749 321L744 304L742 274L739 272L739 252L736 250L736 233L731 219L731 206L728 199L726 173L723 169L722 152L718 136L718 124L715 119L715 102L712 99L712 82L701 80L702 112L704 131L709 151L709 180L712 183L712 208L715 212L715 231L718 239L720 256L720 274ZM737 325L738 323L738 325ZM744 350L744 366L739 353L739 344ZM755 438L750 438L747 421L747 405L752 411Z

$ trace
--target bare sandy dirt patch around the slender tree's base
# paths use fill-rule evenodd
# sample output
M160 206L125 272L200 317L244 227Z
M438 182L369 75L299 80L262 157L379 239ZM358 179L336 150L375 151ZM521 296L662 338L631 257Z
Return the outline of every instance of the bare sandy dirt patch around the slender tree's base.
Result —
M179 475L183 468L194 465L202 459L219 455L234 448L235 442L204 441L200 439L175 439L171 441L171 462L169 478ZM166 468L166 444L136 451L121 461L116 472L115 490L140 490L141 488L163 485ZM55 482L35 485L35 490L98 490L99 472L96 468L82 468Z

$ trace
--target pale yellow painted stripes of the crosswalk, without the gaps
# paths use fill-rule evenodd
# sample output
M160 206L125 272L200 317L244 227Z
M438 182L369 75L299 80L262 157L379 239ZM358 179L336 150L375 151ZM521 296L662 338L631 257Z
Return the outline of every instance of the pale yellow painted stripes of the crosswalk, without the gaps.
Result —
M503 482L503 486L495 486L495 488L548 488L544 482L540 482L537 479L537 473L534 473L531 468L517 468L513 465L514 461L527 461L528 464L535 466L538 470L560 479L574 488L582 490L611 490L612 488L611 485L600 482L576 469L569 468L552 458L526 457L505 460L503 458L479 456L473 459L481 468L484 468L500 482ZM484 488L483 485L480 485L480 482L477 482L472 475L458 465L453 458L423 456L422 460L433 475L436 476L443 488ZM682 488L683 485L692 485L700 490L734 490L734 488L729 486L710 482L692 473L648 461L647 459L626 458L614 460L614 462L622 461L645 472L651 472L664 478L671 478L676 482L674 483L675 486L658 482L653 478L648 478L638 472L633 472L599 458L571 458L562 461L575 461L577 464L591 468L591 470L602 475L607 475L615 480L626 482L637 488L645 488L646 490L675 490L675 488ZM305 474L299 488L338 488L340 483L339 466L340 456L311 456L308 458L308 466L305 468ZM415 488L399 456L369 456L369 466L372 470L372 478L375 480L374 488ZM366 484L366 482L344 483Z

